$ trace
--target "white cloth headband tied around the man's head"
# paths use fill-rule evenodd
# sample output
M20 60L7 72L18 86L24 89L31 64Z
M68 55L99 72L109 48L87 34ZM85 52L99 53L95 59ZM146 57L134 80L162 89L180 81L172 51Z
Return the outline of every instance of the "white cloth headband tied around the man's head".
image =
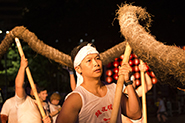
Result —
M99 52L96 50L96 48L92 47L91 44L87 44L86 46L82 47L75 59L74 59L74 67L77 67L78 65L80 65L80 63L82 62L82 60L89 54L99 54ZM77 75L77 85L76 87L78 87L79 85L82 84L83 82L83 77L81 74L79 74L77 71L76 71L76 75Z

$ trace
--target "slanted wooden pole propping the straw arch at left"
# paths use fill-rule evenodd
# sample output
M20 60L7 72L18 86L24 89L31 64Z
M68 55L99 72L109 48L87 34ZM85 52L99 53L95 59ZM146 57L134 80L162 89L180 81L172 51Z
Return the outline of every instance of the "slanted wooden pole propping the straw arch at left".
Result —
M19 39L18 38L15 38L15 42L16 42L16 45L17 45L17 48L18 48L18 51L19 51L20 56L24 56L24 52L23 52L23 49L22 49L22 46L21 46L21 43L20 43ZM31 72L30 72L29 67L26 68L26 74L27 74L28 80L30 82L30 86L31 86L31 88L33 90L33 94L34 94L34 96L36 98L37 105L38 105L38 108L40 110L40 113L41 113L42 117L44 118L44 117L46 117L46 114L44 112L44 109L42 107L41 101L39 99L39 96L38 96L38 93L37 93L37 89L35 87L33 78L31 76Z

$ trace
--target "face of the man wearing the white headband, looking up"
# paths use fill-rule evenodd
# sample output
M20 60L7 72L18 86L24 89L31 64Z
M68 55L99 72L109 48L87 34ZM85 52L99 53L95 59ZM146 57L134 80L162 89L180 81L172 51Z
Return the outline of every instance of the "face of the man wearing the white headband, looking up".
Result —
M102 74L102 61L99 54L89 54L81 62L80 73L84 77L101 77Z

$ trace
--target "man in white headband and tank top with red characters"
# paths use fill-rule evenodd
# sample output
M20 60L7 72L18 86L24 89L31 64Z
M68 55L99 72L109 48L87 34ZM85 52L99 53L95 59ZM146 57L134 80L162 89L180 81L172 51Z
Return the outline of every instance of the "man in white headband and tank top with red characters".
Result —
M105 85L102 75L102 61L98 51L86 42L76 47L71 57L77 72L77 87L66 98L57 118L57 123L97 123L108 122L111 117L116 84ZM122 94L117 122L121 123L121 113L137 120L141 118L141 107L132 82L129 80L131 67L128 63L119 68L124 75L129 98ZM80 78L79 78L80 77Z

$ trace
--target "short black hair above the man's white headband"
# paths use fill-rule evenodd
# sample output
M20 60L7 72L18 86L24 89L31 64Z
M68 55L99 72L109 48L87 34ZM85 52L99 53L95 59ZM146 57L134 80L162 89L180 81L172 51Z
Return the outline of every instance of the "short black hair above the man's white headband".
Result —
M71 60L74 63L75 57L77 55L77 53L80 51L80 49L84 46L86 46L88 44L88 42L82 42L79 46L75 47L72 51L71 51ZM91 45L92 47L95 47L93 44ZM96 47L95 47L96 48Z

